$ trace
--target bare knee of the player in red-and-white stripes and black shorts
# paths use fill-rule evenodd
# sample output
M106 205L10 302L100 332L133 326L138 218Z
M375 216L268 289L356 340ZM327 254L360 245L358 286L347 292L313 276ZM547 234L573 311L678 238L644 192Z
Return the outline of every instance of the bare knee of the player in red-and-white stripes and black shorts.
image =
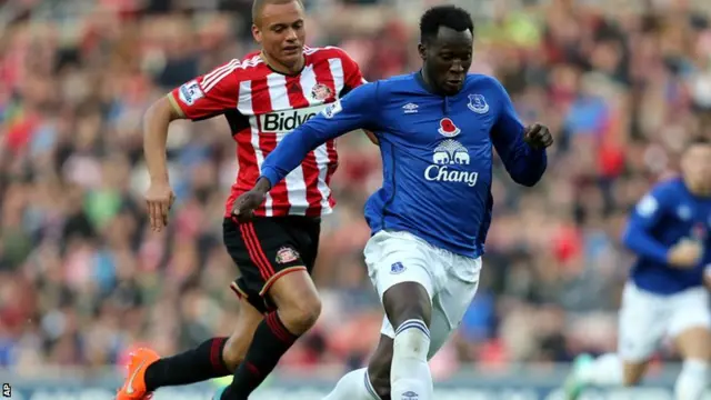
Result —
M311 329L321 316L321 299L306 270L281 277L269 291L279 318L292 333Z

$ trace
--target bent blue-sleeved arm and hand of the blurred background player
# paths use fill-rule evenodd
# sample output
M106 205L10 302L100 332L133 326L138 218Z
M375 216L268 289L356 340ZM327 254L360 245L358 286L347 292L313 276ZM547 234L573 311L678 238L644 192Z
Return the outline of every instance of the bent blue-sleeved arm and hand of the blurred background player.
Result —
M647 193L628 220L622 243L638 256L660 263L679 268L693 267L701 256L698 243L682 240L668 248L651 234L651 230L660 223L672 203L673 193L667 186L659 186Z

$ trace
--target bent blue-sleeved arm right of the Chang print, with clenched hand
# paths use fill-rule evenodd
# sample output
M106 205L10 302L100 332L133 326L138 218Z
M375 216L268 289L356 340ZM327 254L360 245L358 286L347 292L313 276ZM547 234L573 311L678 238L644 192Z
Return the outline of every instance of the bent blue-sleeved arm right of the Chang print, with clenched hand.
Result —
M491 132L491 142L514 182L532 187L541 180L548 166L545 148L553 143L548 127L535 123L524 127L513 102L501 83L499 114Z

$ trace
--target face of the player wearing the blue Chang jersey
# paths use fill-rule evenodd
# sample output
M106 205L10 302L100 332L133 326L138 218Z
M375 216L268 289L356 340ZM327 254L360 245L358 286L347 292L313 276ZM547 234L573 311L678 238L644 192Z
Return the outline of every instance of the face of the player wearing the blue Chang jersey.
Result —
M440 27L434 40L420 44L428 78L439 91L451 96L462 89L471 67L473 46L471 31L458 32L447 27Z

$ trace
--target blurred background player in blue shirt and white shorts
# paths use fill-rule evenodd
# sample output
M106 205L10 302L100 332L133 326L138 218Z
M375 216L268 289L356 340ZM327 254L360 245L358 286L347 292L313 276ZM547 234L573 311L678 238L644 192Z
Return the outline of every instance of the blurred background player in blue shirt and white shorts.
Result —
M618 353L579 357L569 399L587 386L639 383L665 337L683 359L675 399L702 397L711 359L711 142L694 140L681 157L681 177L640 200L622 237L638 259L622 297Z

